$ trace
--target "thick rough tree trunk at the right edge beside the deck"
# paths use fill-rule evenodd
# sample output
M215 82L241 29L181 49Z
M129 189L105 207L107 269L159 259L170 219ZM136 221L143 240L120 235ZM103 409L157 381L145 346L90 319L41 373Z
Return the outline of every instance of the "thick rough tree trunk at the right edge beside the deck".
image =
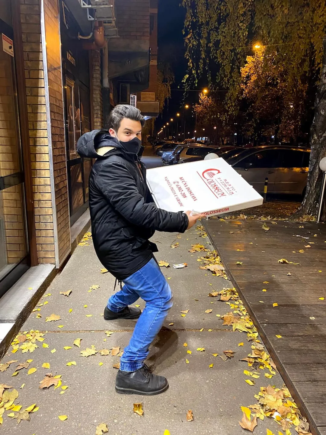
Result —
M323 67L316 94L315 116L310 129L311 154L306 195L303 203L293 215L295 218L304 215L317 214L319 195L322 183L322 172L319 161L326 156L326 38L324 39ZM324 206L323 221L326 220L326 207Z

